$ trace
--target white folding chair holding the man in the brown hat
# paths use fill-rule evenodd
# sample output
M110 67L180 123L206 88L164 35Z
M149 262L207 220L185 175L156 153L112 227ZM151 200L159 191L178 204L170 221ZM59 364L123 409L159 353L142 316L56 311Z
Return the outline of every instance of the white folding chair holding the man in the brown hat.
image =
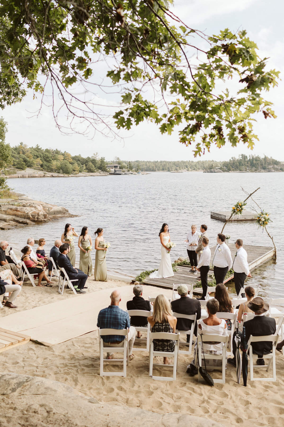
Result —
M248 348L247 348L247 355L249 357L249 367L250 367L250 380L251 381L276 381L276 364L275 364L275 348L277 345L279 339L279 335L264 335L264 336L250 336L249 341L247 343ZM269 354L264 354L262 359L264 360L269 360L267 365L254 365L253 364L253 358L255 357L256 359L258 359L258 355L257 354L253 354L252 353L252 342L261 342L261 341L270 341L272 342L272 352ZM268 372L270 369L272 363L272 370L273 370L273 377L270 378L254 378L253 376L253 368L266 368L266 371Z

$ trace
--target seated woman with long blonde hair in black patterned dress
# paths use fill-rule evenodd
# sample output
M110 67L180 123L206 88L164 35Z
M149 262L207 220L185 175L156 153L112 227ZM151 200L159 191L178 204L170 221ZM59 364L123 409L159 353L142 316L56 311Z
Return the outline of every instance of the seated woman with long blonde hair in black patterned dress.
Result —
M152 332L175 332L177 318L172 315L171 304L165 295L156 297L153 305L153 316L147 318L152 327ZM172 339L153 339L154 351L175 350L175 341ZM164 365L169 364L169 358L164 357Z

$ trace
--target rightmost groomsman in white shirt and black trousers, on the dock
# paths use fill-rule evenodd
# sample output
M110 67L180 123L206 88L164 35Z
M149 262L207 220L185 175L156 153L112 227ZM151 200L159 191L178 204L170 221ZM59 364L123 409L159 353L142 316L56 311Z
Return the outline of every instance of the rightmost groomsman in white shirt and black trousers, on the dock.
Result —
M241 239L237 239L235 241L235 246L237 248L237 252L235 253L233 269L235 290L238 295L241 288L244 287L244 281L246 278L252 277L252 275L250 274L249 264L247 263L247 252L243 248L243 241ZM241 296L244 298L244 293L242 293Z

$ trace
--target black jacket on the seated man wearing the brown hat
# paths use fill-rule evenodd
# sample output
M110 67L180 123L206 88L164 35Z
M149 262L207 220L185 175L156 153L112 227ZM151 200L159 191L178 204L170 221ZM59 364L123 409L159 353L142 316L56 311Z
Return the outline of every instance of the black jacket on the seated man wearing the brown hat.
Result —
M243 329L245 329L246 340L250 336L261 335L274 335L276 332L276 323L273 317L257 316L247 322L244 322ZM252 342L252 352L257 354L258 357L263 357L264 354L269 354L272 351L272 343L269 341Z

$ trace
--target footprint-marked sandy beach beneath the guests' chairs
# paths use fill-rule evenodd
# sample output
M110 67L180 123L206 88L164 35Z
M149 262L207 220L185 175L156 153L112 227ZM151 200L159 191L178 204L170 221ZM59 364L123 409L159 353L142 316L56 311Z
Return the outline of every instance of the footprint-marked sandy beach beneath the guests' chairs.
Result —
M87 292L128 285L127 282L109 280L87 281ZM70 292L61 296L57 286L52 288L23 285L17 298L17 310L4 308L0 316L9 316L20 310L28 310L43 304L58 301L58 298L77 298ZM158 293L163 290L157 289ZM167 291L169 292L169 291ZM143 344L141 344L143 345ZM135 343L136 346L136 343ZM100 402L139 407L153 412L180 412L204 416L224 426L284 426L284 409L281 390L284 390L284 358L276 355L276 382L248 380L247 387L236 383L235 369L228 365L226 384L215 387L198 383L197 376L189 377L186 366L192 357L180 355L176 381L157 381L149 378L148 353L135 352L135 359L129 362L127 376L100 377L98 332L94 331L52 347L30 341L27 345L12 348L1 353L1 372L28 374L61 381L77 392L92 396ZM110 367L109 369L113 369ZM168 369L158 369L157 374ZM264 376L271 372L261 371ZM221 377L214 372L213 377Z

